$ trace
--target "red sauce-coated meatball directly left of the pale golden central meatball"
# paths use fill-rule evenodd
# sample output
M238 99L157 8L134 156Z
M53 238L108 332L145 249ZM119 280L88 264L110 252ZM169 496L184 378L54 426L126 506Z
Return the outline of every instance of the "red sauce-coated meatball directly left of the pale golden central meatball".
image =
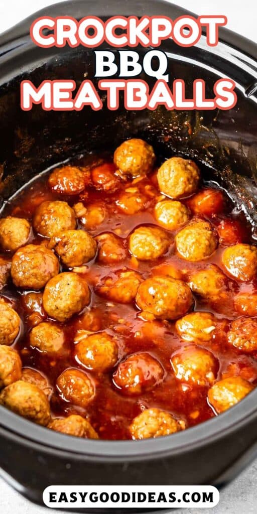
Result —
M98 259L104 264L115 264L126 257L126 248L123 240L114 234L105 232L96 237L99 243Z

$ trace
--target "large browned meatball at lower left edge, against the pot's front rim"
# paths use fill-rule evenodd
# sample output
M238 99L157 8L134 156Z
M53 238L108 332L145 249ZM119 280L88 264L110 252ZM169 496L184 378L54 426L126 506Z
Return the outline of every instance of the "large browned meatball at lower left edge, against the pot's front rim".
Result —
M34 384L17 380L0 394L0 404L34 423L46 426L50 406L46 395Z

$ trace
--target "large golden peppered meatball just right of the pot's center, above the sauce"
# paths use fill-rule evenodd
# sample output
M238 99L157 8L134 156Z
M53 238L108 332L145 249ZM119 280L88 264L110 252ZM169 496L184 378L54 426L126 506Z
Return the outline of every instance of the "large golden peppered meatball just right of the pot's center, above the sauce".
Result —
M217 238L210 223L195 220L180 230L175 238L179 255L190 262L207 259L217 247Z

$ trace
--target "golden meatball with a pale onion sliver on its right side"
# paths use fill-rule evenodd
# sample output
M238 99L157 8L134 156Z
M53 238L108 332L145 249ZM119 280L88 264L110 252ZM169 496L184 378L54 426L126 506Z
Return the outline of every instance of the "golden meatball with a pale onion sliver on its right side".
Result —
M190 313L176 322L176 330L184 341L207 343L213 338L215 325L210 313Z

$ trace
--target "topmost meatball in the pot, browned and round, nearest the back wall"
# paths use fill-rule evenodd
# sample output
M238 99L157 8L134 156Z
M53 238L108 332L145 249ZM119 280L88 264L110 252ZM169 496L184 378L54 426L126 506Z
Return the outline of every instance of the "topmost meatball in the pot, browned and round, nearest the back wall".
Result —
M122 175L148 175L155 163L153 147L142 139L128 139L115 150L114 163Z

